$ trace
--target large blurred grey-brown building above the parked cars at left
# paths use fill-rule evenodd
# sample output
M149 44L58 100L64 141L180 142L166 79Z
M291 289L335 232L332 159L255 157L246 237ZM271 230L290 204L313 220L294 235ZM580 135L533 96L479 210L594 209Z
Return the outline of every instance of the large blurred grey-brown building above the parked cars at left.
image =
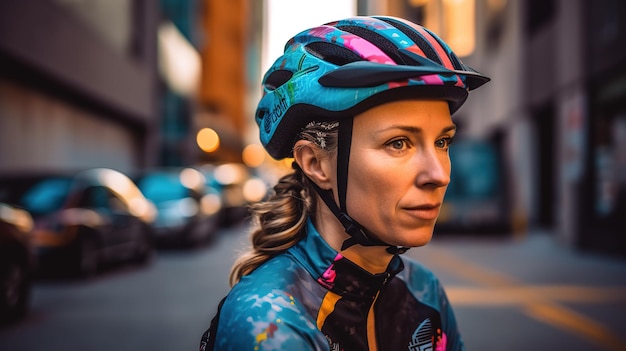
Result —
M153 1L0 4L0 172L154 162Z

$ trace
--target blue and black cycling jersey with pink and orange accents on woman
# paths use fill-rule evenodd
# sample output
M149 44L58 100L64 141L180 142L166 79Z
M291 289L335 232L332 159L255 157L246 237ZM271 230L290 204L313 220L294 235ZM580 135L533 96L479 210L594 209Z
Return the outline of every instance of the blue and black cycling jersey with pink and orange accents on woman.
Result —
M201 350L463 350L435 275L394 256L370 274L307 235L231 289ZM208 332L208 331L207 331ZM209 341L209 338L214 338Z

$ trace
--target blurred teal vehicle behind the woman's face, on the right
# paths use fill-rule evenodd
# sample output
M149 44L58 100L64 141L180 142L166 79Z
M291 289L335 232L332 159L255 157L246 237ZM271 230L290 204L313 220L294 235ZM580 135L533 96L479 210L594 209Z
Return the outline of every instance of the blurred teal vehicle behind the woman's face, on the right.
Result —
M436 232L479 235L511 232L507 177L499 150L489 141L455 141L450 148L450 184Z

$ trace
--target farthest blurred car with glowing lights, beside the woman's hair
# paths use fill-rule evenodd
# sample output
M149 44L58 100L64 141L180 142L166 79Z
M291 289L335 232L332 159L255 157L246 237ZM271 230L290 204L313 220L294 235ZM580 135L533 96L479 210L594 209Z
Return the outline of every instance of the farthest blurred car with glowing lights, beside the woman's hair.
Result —
M270 186L243 163L204 165L200 168L206 183L217 189L222 198L221 225L241 222L250 215L248 206L269 194Z

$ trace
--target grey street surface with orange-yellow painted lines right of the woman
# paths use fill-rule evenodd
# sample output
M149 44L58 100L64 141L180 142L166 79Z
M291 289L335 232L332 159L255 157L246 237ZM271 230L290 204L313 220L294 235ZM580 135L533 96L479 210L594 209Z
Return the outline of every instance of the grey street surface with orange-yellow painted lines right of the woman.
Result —
M440 277L468 350L626 350L625 259L547 233L435 237L406 255Z

